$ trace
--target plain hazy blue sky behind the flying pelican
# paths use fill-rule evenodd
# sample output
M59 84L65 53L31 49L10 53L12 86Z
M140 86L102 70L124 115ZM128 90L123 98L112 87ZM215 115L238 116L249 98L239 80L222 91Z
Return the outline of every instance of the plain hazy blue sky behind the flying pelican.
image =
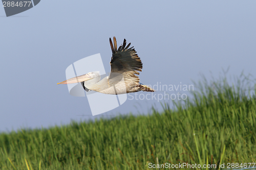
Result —
M143 84L191 85L200 74L217 78L228 67L229 75L244 70L255 78L255 7L255 1L42 0L12 17L0 8L0 131L95 118L87 98L57 83L70 64L97 53L109 72L113 36L135 47ZM100 116L147 113L152 105L161 110L156 100L127 100Z

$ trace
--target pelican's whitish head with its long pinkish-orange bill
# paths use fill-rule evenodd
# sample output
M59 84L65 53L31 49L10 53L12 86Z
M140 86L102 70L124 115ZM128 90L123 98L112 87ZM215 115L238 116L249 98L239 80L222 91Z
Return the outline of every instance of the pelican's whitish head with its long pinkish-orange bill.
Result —
M88 72L88 74L77 76L57 84L71 84L84 82L84 85L93 85L100 80L99 71Z

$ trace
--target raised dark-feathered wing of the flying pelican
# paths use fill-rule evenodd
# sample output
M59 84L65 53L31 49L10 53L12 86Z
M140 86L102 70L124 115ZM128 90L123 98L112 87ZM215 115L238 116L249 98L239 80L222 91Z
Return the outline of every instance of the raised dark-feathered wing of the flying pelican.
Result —
M134 50L134 47L130 47L131 43L126 46L126 40L124 39L123 44L117 49L116 37L113 40L114 46L110 38L112 50L110 79L115 77L115 73L119 73L123 75L124 80L139 83L140 79L136 75L139 75L138 71L142 69L142 62L136 54L137 52Z

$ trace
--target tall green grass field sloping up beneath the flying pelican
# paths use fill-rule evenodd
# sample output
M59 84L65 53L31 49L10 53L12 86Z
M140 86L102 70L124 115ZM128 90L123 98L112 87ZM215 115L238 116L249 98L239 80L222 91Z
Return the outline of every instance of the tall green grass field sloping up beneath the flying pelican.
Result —
M255 90L245 89L225 80L203 83L194 98L176 103L175 109L163 105L161 113L153 108L151 115L1 133L0 169L153 169L148 163L245 166L256 162Z

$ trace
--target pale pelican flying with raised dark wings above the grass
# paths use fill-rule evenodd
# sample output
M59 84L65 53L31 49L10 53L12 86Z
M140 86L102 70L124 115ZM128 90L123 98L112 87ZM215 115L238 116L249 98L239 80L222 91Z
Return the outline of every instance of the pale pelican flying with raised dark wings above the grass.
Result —
M112 50L110 76L100 80L99 71L93 71L57 84L81 82L84 90L93 90L105 94L124 94L138 91L154 92L155 90L151 87L139 83L140 79L136 75L139 75L138 71L142 69L142 62L134 47L129 48L131 43L126 46L126 40L124 39L123 44L117 49L116 37L113 40L114 46L110 38Z

